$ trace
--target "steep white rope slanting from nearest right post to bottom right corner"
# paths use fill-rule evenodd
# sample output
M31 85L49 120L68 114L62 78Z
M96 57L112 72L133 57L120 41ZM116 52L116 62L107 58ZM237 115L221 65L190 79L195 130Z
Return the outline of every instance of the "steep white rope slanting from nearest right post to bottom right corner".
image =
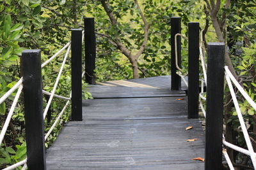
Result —
M226 68L227 67L225 67L225 69ZM240 125L241 125L241 129L243 131L244 139L245 139L246 145L248 147L248 150L250 152L250 157L252 159L253 167L256 169L256 157L254 155L253 146L252 146L252 143L250 141L249 134L248 134L248 131L246 129L246 125L244 123L243 115L241 113L241 110L240 110L240 107L239 107L239 104L238 104L238 101L237 101L237 98L236 98L236 93L234 92L234 89L233 89L233 86L232 86L232 83L231 83L231 80L230 80L230 76L228 74L226 74L226 80L227 80L227 83L228 83L228 88L230 90L230 94L231 94L232 99L233 99L233 103L234 103L235 108L236 108L237 117L239 119L239 122L240 122ZM237 87L237 89L238 89L238 87Z

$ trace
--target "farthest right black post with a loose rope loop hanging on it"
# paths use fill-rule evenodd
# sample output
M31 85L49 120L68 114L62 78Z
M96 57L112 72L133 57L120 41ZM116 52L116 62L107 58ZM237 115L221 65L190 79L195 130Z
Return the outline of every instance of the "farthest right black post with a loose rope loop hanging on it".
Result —
M172 90L180 90L181 85L181 79L176 72L178 69L175 65L175 34L180 33L181 31L181 18L180 17L172 17L171 18L171 72L172 72ZM178 65L180 66L181 62L181 45L180 45L180 36L177 37L177 59L178 59Z

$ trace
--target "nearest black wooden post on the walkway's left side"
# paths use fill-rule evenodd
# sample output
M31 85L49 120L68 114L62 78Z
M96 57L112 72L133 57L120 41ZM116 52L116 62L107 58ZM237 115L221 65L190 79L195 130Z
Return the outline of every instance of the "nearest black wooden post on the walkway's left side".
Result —
M41 51L24 50L21 57L28 169L46 169L42 110Z

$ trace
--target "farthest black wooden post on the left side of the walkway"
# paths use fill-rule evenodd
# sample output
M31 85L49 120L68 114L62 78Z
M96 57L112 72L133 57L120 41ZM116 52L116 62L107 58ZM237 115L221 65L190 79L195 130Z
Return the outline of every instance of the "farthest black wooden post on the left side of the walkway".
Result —
M85 81L95 85L96 37L94 18L84 18Z

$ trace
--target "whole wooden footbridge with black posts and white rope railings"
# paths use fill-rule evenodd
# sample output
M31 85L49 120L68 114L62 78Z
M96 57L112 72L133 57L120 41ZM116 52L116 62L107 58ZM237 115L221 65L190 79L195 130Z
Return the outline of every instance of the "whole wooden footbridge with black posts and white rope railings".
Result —
M179 71L180 37L177 36L180 35L181 29L180 17L172 17L172 76L115 80L96 84L94 20L85 18L84 23L84 31L72 29L71 41L43 64L41 64L40 50L22 52L22 78L0 98L1 104L18 89L1 130L0 144L23 90L27 158L17 161L5 170L20 166L23 166L22 169L28 166L28 169L33 170L219 170L222 168L222 154L230 169L234 169L223 145L249 155L253 166L256 167L256 153L253 152L252 144L246 143L248 146L246 150L228 143L223 136L224 43L209 43L207 46L206 73L204 56L200 53L202 47L199 46L199 23L189 22L188 76L186 76L188 83L185 86L181 83L181 78L184 82L186 78ZM82 74L83 38L86 69ZM42 87L41 68L56 59L64 50L67 51L54 87L51 92L45 92ZM70 97L58 96L55 92L70 50L72 92ZM199 55L204 72L200 91ZM90 84L88 90L92 93L93 99L82 100L82 75L84 74L86 82ZM225 67L225 74L230 91L232 91L231 79L256 110L256 104L243 91L243 88L239 87L239 83L232 77L228 67ZM205 85L207 83L207 98L203 96L204 82ZM44 111L42 93L50 96ZM233 93L232 97L234 96L236 97L236 94ZM54 120L51 129L47 129L46 132L44 118L53 97L67 100L67 103ZM206 113L202 100L206 100ZM236 99L233 100L236 101ZM72 103L70 122L64 125L56 141L45 152L45 140L60 121L70 101ZM198 120L198 104L204 115L207 115L205 132ZM239 108L238 103L236 106ZM250 141L241 111L237 110L237 114L240 114L239 121L243 127L244 136L247 135L246 139ZM204 158L205 161L201 162L200 160Z

